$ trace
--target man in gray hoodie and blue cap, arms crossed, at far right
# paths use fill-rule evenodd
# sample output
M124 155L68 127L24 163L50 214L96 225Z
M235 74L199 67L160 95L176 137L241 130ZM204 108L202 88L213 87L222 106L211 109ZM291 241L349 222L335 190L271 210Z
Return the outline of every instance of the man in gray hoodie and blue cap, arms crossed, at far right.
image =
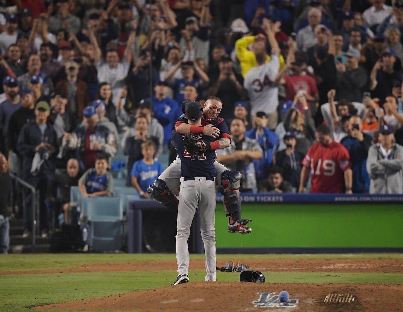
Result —
M403 194L403 147L395 143L392 127L383 125L379 143L368 151L370 194Z

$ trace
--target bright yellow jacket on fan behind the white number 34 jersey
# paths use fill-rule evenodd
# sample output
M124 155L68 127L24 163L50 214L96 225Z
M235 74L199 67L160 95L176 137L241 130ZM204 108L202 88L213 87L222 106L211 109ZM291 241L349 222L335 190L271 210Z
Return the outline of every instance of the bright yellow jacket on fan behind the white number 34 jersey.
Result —
M252 68L258 66L256 61L255 53L248 50L249 44L255 42L255 36L247 36L238 39L235 42L235 50L237 51L237 56L239 62L241 63L242 76L245 78L246 73ZM285 61L283 55L280 54L280 71L285 67ZM270 62L270 56L266 55L266 63Z

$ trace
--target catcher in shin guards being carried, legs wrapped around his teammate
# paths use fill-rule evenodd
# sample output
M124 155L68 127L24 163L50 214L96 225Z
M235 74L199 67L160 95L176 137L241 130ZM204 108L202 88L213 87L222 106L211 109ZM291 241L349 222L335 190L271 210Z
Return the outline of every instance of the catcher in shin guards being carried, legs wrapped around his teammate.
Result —
M196 101L183 102L182 110L185 105L193 103L200 106ZM204 138L216 139L206 143L202 149L210 151L224 149L230 144L231 136L224 119L218 117L222 109L222 101L216 96L210 96L204 103L201 126L189 124L185 115L181 115L175 124L175 131L179 134L202 134ZM184 111L185 113L185 111ZM202 150L203 152L204 150ZM178 153L179 154L179 153ZM191 157L189 155L189 157ZM218 161L214 161L216 181L221 183L224 195L224 207L226 216L229 216L228 232L230 233L250 233L251 228L245 226L251 220L241 218L241 198L239 194L240 180L242 174L239 171L230 171ZM181 158L180 155L164 170L164 172L147 189L148 195L155 198L162 205L173 211L178 210L178 199L171 190L180 186L181 178Z

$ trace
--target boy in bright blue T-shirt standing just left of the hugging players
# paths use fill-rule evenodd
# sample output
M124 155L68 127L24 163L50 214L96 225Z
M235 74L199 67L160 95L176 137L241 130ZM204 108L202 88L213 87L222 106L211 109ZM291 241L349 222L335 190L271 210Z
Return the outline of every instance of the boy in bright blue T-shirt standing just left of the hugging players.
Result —
M152 140L146 140L141 144L143 159L136 161L131 170L131 185L139 192L140 197L150 198L147 188L164 171L159 161L154 161L156 147Z

